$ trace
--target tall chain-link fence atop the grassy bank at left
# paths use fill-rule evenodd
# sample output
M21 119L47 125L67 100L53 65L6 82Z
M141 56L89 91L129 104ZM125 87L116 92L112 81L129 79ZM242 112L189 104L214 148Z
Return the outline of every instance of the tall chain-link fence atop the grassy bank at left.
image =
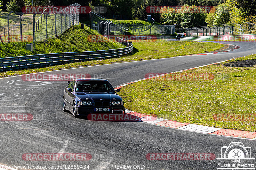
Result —
M2 42L42 41L55 38L72 25L79 24L79 14L75 8L80 4L71 4L67 8L73 11L58 13L24 14L23 12L1 12L0 38ZM68 10L67 10L68 11Z

